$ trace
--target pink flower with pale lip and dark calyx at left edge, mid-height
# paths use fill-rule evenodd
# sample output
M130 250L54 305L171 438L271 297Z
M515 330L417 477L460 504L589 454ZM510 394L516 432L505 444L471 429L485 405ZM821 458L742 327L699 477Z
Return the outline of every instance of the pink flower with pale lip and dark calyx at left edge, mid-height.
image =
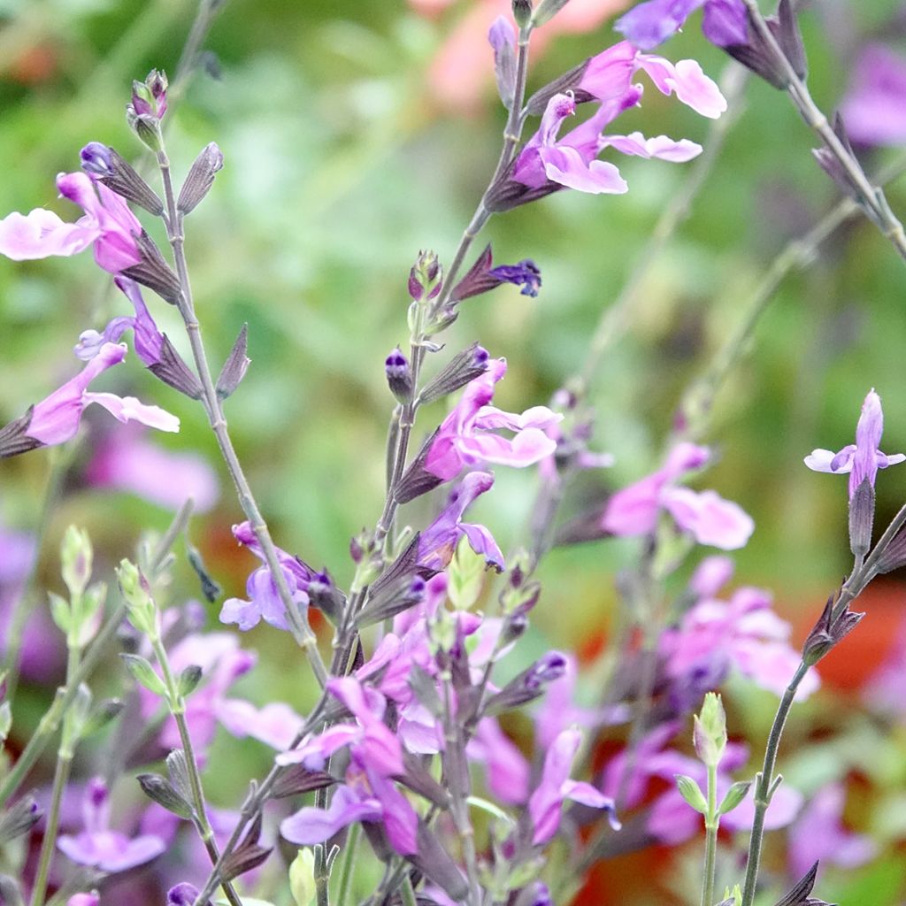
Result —
M119 364L125 356L125 343L104 343L81 374L54 390L46 400L34 405L29 415L0 429L0 458L71 440L79 430L82 412L92 402L98 403L122 422L140 421L149 428L178 431L179 419L158 406L146 406L135 397L88 390L88 385L102 371Z

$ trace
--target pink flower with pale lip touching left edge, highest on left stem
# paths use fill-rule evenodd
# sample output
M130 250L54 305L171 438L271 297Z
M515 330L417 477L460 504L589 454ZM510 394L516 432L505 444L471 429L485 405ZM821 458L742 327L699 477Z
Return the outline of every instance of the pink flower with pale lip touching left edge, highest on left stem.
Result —
M10 214L0 220L0 255L26 261L75 255L93 244L94 260L111 274L139 264L135 237L141 225L119 195L85 173L61 173L57 188L82 207L85 216L69 224L43 207L27 215Z

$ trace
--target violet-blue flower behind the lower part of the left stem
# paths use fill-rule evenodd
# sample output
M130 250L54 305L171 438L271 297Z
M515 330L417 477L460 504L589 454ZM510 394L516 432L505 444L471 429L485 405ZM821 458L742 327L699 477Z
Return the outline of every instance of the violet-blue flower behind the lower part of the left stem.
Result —
M264 562L265 553L252 531L251 523L246 521L234 525L233 535L236 536L236 541L240 545L246 546L259 560ZM315 574L312 567L303 563L298 557L287 554L279 547L276 550L277 559L280 561L284 579L293 595L293 601L300 608L307 607L308 583L312 581ZM246 593L248 601L244 601L242 598L230 598L224 602L220 611L220 622L235 622L239 629L246 631L264 619L277 629L289 629L284 603L280 600L274 576L266 564L259 566L254 573L249 575L246 582Z

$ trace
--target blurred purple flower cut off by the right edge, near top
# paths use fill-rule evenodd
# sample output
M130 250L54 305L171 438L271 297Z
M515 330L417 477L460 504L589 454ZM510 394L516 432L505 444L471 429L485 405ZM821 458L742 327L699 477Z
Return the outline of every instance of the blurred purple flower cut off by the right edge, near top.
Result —
M840 113L853 142L906 142L906 59L883 44L868 44L856 58Z

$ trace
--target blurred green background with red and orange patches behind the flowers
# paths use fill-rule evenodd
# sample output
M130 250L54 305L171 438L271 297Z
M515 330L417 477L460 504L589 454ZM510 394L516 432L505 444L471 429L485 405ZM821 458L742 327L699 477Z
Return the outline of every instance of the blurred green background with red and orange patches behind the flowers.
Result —
M568 27L541 35L530 90L616 40L612 15L621 0L573 5ZM410 265L420 248L448 259L496 162L504 111L484 33L501 6L226 0L205 43L207 71L173 105L169 153L176 173L210 140L226 159L214 190L188 220L187 247L214 361L248 324L252 366L227 404L236 446L278 544L326 565L341 585L352 575L350 537L374 523L383 500L392 400L382 366L407 338ZM54 198L53 178L77 168L89 140L140 159L123 117L130 81L152 66L175 69L194 13L190 0L0 0L0 212L46 206L72 217ZM895 0L828 0L807 5L801 18L810 84L826 110L846 92L864 43L882 39L906 51L906 16ZM727 66L695 21L664 53L695 57L715 78ZM836 200L814 163L812 135L783 95L753 80L737 106L738 119L689 219L644 276L622 332L595 371L594 447L611 452L616 465L586 482L581 494L568 495L564 516L574 515L587 494L657 466L683 387L733 329L774 256ZM710 129L653 88L621 126L703 144ZM896 149L865 153L875 167ZM627 195L562 192L495 217L482 237L493 242L496 260L531 257L544 275L537 299L505 286L469 300L446 335L449 350L478 340L506 356L509 372L497 398L505 409L546 402L582 364L602 312L620 294L691 166L619 164ZM889 195L895 210L906 211L906 188ZM162 242L158 226L147 226ZM82 330L101 329L124 313L108 284L90 255L24 264L0 259L0 421L17 417L77 370L71 348ZM850 564L844 483L808 472L803 456L849 442L872 387L884 401L883 448L906 449L904 286L892 248L871 225L855 222L805 272L784 281L718 394L708 440L720 461L708 487L737 500L757 522L737 556L737 580L772 589L797 638ZM154 302L155 317L175 339L175 313ZM241 594L252 559L230 535L240 513L200 407L154 381L134 357L107 380L177 413L181 433L153 442L190 451L215 470L219 498L195 520L192 538L226 593ZM440 418L442 404L429 416ZM167 506L92 483L92 460L118 427L104 418L86 419L65 468L33 593L60 585L56 551L66 525L88 528L102 574L130 555L142 529L169 522ZM52 467L46 450L0 464L6 528L38 530ZM477 506L477 516L506 550L525 538L535 477L497 471L496 491ZM906 471L882 473L879 522L904 499ZM424 514L416 507L409 516ZM636 553L632 543L599 543L550 554L525 660L551 646L586 654L600 646L617 600L614 575ZM174 597L197 596L196 588L183 569ZM858 631L822 665L824 689L795 712L781 762L788 782L806 795L843 780L846 822L878 843L870 863L824 872L822 896L847 906L899 903L906 891L906 729L902 715L898 723L866 712L861 695L892 649L906 595L894 579L869 597ZM216 607L210 624L217 624ZM311 700L304 664L287 640L265 628L243 641L260 655L244 680L249 698L284 699L298 708ZM24 686L16 706L20 743L46 702L42 682L53 683L59 670L48 654ZM906 675L903 683L906 691ZM583 689L587 697L594 693ZM775 703L741 682L728 690L731 734L752 739L758 757L757 740ZM235 805L247 776L236 767L260 772L267 755L256 744L236 754L233 740L221 743L230 756L218 767L215 749L211 798ZM602 870L587 901L694 901L699 843ZM772 839L768 857L769 870L782 878L783 834Z

